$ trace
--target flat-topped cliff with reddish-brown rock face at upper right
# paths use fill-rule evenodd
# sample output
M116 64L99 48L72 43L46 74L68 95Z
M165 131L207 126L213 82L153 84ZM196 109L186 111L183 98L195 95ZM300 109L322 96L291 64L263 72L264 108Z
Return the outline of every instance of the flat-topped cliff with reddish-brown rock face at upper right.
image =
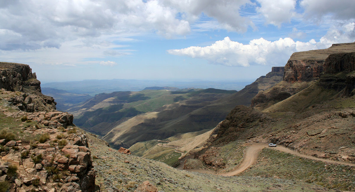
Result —
M252 99L251 107L258 110L266 109L309 87L320 79L324 73L350 72L354 68L349 63L351 52L354 52L354 50L355 43L342 43L333 44L328 49L293 53L284 67L283 81L258 93ZM340 57L344 58L341 59ZM345 66L344 63L346 63ZM349 78L348 81L351 83L351 77Z

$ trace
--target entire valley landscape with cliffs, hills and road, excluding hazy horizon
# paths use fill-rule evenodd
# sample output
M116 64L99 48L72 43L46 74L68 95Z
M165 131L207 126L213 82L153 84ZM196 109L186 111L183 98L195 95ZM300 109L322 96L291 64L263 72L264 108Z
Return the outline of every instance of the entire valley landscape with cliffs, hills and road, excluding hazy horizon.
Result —
M295 53L239 91L101 93L73 102L73 115L56 110L28 65L1 62L7 172L0 185L10 192L133 192L146 181L157 191L354 191L354 50L345 43Z

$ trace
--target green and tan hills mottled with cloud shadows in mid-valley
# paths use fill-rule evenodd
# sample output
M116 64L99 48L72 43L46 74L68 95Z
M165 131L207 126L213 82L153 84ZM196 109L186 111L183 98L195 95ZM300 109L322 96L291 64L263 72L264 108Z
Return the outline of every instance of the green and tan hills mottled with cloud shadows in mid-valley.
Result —
M273 67L239 92L159 88L101 93L69 111L77 126L103 136L111 146L129 147L140 141L214 128L236 105L250 105L251 98L282 81L282 77L283 67Z

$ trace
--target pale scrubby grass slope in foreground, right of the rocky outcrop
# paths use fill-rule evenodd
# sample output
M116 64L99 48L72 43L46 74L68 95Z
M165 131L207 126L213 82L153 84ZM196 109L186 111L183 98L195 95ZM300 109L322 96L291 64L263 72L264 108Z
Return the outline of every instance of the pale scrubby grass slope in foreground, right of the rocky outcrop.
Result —
M88 136L88 139L92 157L95 157L93 165L98 175L96 184L102 184L104 192L108 188L127 189L127 183L130 181L136 181L139 184L146 180L157 186L158 191L171 192L325 191L319 186L293 180L264 177L224 177L181 171L158 161L117 153L115 149L107 147L104 141L91 135ZM125 163L125 160L130 163Z

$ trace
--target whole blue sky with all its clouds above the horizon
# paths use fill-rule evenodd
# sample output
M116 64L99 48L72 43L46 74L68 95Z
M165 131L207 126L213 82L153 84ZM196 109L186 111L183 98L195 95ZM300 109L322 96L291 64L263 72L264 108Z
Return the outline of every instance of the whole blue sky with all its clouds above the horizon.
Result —
M42 82L253 81L355 41L354 0L0 0L0 61Z

